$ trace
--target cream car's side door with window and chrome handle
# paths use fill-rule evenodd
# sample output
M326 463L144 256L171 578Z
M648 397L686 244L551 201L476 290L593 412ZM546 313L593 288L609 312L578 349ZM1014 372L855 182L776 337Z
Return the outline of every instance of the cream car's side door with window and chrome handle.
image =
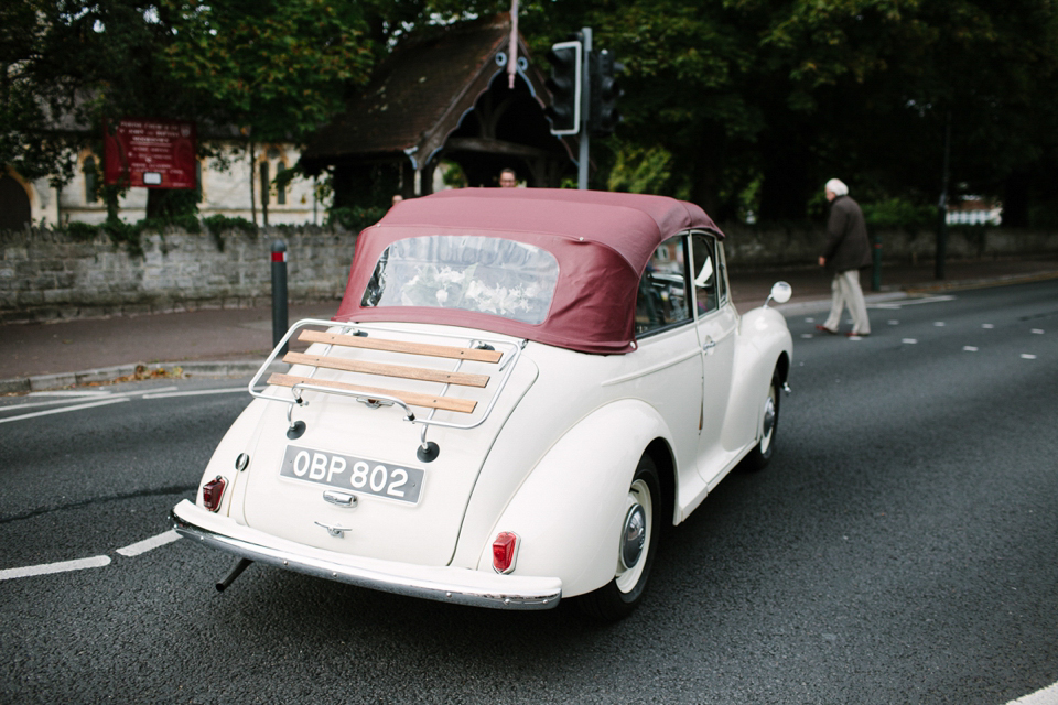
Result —
M737 453L724 445L738 313L727 290L723 245L710 232L691 234L694 327L702 356L701 433L698 471L712 488Z

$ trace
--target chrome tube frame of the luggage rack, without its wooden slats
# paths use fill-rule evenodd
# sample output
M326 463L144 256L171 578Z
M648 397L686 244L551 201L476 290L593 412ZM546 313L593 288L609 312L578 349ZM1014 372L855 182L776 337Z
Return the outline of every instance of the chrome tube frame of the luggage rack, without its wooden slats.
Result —
M518 361L518 358L521 356L521 350L526 347L528 343L528 340L526 339L518 339L518 340L511 341L510 339L501 340L498 338L484 338L484 337L465 338L466 340L465 349L503 350L501 357L496 361L497 371L501 372L501 376L499 378L498 383L494 384L492 395L488 398L485 404L485 410L481 412L478 415L477 408L475 405L474 410L468 413L474 414L475 416L477 416L477 419L468 423L461 424L461 423L454 423L451 421L439 421L434 419L438 412L436 408L430 408L430 412L425 417L417 416L414 412L412 412L411 406L419 405L419 404L415 404L413 402L410 403L392 394L379 393L379 391L358 390L355 388L354 389L336 389L334 387L324 387L323 384L313 384L307 381L301 381L291 386L290 387L291 395L289 398L270 394L267 391L258 391L257 389L255 389L256 387L259 387L262 384L269 384L268 381L261 382L261 378L264 377L264 375L269 371L268 368L280 356L280 354L287 347L287 345L289 344L293 335L298 330L301 330L307 326L322 326L326 328L328 334L336 334L342 336L367 337L369 339L370 339L370 334L373 333L390 333L390 334L398 334L401 336L408 335L407 330L401 330L397 328L387 328L385 326L378 326L378 325L348 324L348 323L336 323L334 321L322 321L317 318L304 318L290 327L290 329L287 332L287 335L284 335L282 339L276 345L276 348L272 350L271 355L268 356L268 359L266 359L264 364L261 365L261 368L257 371L257 375L255 375L253 379L250 380L250 383L248 386L250 394L257 399L278 401L278 402L289 404L289 406L287 408L287 422L289 424L287 436L290 438L298 438L305 432L305 422L294 421L293 419L293 410L295 406L309 405L309 402L302 395L302 392L304 391L315 391L315 392L322 392L326 394L338 394L342 397L350 397L356 401L359 401L373 409L377 409L379 406L392 406L392 405L400 406L404 412L404 421L409 421L413 424L420 424L422 426L422 431L420 433L420 447L418 451L418 455L419 455L419 458L424 462L432 460L438 456L438 453L440 452L440 448L438 448L438 445L435 443L427 441L427 431L430 426L439 426L439 427L456 429L456 430L468 430L468 429L475 429L482 425L483 423L485 423L485 421L488 419L489 414L492 413L493 408L496 405L496 402L499 399L500 393L504 391L504 388L507 386L507 380L510 378L510 375L516 367L516 362ZM463 336L454 336L452 334L440 334L440 333L430 333L430 332L422 332L422 330L415 330L414 333L412 333L412 335L415 338L423 338L423 337L441 338L445 340L445 343L442 344L442 346L445 348L451 348L454 350L464 349L449 343L452 339L458 339ZM380 339L380 340L397 343L391 339L388 339L388 340ZM344 347L337 343L327 343L325 344L325 348L323 352L319 357L328 355L336 345L338 347ZM417 354L417 352L410 352L410 354ZM418 352L418 354L424 357L430 357L429 352ZM465 361L466 360L462 358L456 359L454 369L447 370L447 372L457 373L462 368L463 362ZM305 362L305 361L293 362L293 365L305 365L311 367L312 369L307 375L309 379L315 376L320 367L325 367L325 366L314 366L311 362ZM489 380L489 382L493 382L493 381L494 380L492 379ZM439 394L440 397L443 397L444 394L446 394L449 389L452 387L452 382L438 381L436 383L442 386L441 392Z

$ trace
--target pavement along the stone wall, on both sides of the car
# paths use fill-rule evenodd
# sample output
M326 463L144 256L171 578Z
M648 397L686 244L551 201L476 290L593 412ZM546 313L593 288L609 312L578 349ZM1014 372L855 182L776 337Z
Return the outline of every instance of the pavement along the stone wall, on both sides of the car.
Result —
M936 280L932 262L884 265L879 291L871 291L870 273L861 283L870 304L1058 279L1058 254L948 262L946 274ZM779 280L792 285L794 296L776 308L796 314L830 305L830 279L819 268L732 270L728 276L742 312L763 304ZM330 319L337 308L337 300L295 304L289 321ZM267 306L0 325L0 394L159 377L248 377L271 348Z

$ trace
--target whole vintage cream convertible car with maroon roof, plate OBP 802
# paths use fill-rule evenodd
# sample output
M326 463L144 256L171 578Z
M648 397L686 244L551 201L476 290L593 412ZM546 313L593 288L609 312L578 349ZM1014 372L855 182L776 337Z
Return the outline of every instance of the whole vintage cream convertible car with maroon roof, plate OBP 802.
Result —
M257 561L627 615L662 522L775 451L790 334L767 302L735 311L722 239L660 196L399 204L360 234L337 315L295 324L250 382L176 531L239 556L218 589ZM268 372L288 341L311 346Z

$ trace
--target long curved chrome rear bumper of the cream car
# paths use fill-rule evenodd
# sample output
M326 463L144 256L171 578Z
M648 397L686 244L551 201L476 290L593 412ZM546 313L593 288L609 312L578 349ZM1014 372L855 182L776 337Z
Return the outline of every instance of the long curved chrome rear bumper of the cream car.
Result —
M562 598L557 577L499 575L350 556L278 539L183 500L173 508L180 535L257 563L386 593L495 609L551 609Z

